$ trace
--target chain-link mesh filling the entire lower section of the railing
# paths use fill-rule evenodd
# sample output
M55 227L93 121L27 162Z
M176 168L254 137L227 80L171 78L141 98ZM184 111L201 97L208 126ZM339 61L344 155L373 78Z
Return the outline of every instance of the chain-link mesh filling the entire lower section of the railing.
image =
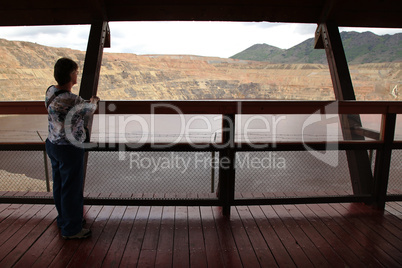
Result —
M318 152L320 153L320 152ZM0 191L46 192L42 151L0 151ZM373 155L375 157L375 154ZM388 193L402 190L402 150L392 153ZM85 192L211 193L219 181L218 152L90 152ZM51 165L46 157L51 183ZM373 161L374 164L374 161ZM352 192L345 151L238 152L236 193L329 195Z

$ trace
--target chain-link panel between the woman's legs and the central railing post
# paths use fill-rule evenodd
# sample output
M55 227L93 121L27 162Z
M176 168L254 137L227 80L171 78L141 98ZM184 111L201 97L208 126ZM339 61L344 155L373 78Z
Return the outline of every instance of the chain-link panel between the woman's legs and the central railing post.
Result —
M85 182L95 193L209 193L218 185L219 153L91 152Z

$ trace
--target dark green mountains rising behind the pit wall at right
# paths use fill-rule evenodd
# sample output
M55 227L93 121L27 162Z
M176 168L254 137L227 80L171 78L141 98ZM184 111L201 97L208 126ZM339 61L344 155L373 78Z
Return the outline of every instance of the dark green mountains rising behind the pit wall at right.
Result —
M341 39L349 64L402 62L402 33L379 36L372 32L341 32ZM230 58L271 63L327 64L325 50L314 49L314 38L289 49L257 44Z

